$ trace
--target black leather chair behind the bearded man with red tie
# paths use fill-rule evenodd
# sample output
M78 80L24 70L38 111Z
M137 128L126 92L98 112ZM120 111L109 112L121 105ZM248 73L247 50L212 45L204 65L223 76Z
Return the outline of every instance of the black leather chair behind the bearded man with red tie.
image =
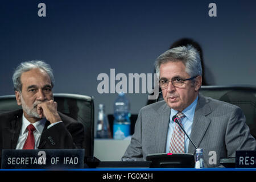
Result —
M80 121L85 129L85 156L93 156L94 147L94 104L93 97L79 94L53 94L57 102L57 110L69 117ZM0 96L0 113L21 109L16 104L14 95Z

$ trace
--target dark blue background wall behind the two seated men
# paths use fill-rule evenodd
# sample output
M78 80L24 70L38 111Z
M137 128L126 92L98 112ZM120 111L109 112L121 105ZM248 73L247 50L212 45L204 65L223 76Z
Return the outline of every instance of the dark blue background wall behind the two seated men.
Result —
M46 17L38 4L46 3ZM217 17L208 5L217 5ZM153 73L154 61L177 39L201 44L209 84L255 85L256 1L1 1L0 95L14 94L22 61L40 59L55 73L55 93L94 96L113 112L117 94L98 94L100 73ZM131 113L147 94L127 94Z

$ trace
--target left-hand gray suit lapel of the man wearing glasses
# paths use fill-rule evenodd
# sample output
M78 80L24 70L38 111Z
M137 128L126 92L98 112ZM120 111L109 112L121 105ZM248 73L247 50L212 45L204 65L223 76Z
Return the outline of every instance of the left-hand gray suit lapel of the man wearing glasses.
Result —
M159 118L156 121L159 122L156 123L155 130L156 151L158 153L163 153L166 152L167 132L170 122L171 108L167 104L164 104L162 107L159 108L158 113Z

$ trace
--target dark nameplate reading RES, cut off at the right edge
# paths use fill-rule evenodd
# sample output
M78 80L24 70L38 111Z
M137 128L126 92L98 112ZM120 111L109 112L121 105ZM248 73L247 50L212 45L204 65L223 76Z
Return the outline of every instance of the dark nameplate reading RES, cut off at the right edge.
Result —
M255 168L256 151L236 151L236 168Z

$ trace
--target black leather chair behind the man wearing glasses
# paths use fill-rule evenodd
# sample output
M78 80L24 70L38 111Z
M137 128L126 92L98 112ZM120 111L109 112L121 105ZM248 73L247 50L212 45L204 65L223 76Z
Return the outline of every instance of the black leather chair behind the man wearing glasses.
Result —
M256 138L256 86L201 86L200 93L239 106L251 134Z

